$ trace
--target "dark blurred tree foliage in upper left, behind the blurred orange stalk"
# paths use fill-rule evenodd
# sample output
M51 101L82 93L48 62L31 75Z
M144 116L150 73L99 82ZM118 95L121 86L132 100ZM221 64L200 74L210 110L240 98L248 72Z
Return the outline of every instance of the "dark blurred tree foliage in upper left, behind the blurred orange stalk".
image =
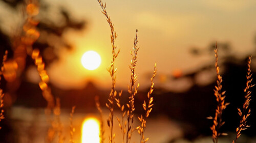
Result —
M6 3L9 9L13 12L17 11L20 5L25 6L25 2L21 0L1 0L2 3ZM64 38L63 35L69 30L73 29L77 32L86 28L87 22L86 20L77 20L71 16L71 12L66 10L65 8L53 7L46 2L39 1L39 15L36 16L36 20L39 21L37 25L37 30L40 33L39 39L33 44L33 47L36 47L42 53L42 58L44 59L46 66L58 60L59 55L58 52L61 48L72 49L73 45L68 42L67 39ZM54 12L52 12L52 8ZM56 14L58 14L55 18ZM5 20L6 17L0 17L0 21ZM25 20L26 17L24 17ZM20 21L23 22L23 21ZM1 23L0 23L1 24ZM23 23L21 24L23 25ZM16 29L17 32L14 32L19 35L19 31L22 30L22 27L18 27ZM13 41L14 36L8 33L5 33L2 29L0 29L0 57L3 56L5 50L9 50L9 57L12 57L13 53ZM2 63L2 59L0 60ZM32 59L27 58L26 68L33 64ZM26 69L25 69L26 70Z

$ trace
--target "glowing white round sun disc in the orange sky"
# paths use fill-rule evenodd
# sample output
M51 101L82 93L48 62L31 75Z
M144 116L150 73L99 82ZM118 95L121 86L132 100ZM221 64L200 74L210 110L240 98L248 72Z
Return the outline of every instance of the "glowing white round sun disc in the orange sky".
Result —
M95 70L100 66L101 58L96 51L87 51L82 55L82 66L88 70Z

